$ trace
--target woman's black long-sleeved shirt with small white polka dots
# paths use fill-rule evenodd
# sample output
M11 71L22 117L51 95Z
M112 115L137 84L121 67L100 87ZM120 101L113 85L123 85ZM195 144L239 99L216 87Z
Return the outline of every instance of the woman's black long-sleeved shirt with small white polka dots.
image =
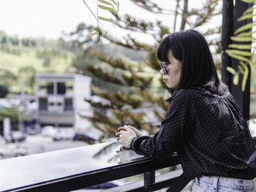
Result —
M130 148L155 161L178 152L187 177L256 177L255 151L246 120L227 91L181 89L172 96L165 120L153 137L135 137Z

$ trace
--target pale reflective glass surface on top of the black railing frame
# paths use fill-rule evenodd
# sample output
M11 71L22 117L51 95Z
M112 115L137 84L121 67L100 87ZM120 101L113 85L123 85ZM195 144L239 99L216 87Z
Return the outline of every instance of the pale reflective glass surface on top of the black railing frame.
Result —
M145 157L132 150L120 150L119 142L4 159L0 160L0 191L75 174L89 174L142 159Z

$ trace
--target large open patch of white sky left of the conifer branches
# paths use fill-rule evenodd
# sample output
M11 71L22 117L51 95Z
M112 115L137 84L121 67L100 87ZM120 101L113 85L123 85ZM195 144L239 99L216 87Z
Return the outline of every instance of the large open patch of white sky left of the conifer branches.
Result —
M58 38L80 22L94 22L83 0L0 0L0 30L10 35Z

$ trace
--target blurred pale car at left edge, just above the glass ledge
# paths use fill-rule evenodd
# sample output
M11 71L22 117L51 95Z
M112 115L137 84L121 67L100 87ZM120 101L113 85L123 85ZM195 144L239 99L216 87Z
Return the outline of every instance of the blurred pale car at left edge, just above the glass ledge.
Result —
M0 156L2 158L18 157L28 154L28 149L26 147L20 147L19 145L8 144L4 147L0 147Z

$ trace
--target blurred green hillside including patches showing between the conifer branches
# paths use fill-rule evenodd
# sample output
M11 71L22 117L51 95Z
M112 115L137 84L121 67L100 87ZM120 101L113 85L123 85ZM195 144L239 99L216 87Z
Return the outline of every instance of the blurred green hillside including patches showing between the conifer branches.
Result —
M108 57L119 57L129 61L141 61L141 56L146 54L138 54L135 50L117 45L99 43L91 46L95 50L103 50ZM22 85L25 85L26 93L34 93L34 74L37 72L92 75L85 68L90 64L99 64L99 61L88 50L73 47L72 42L65 42L63 39L19 39L0 31L0 89L7 88L9 93L20 93ZM94 78L93 83L99 87L107 86L110 91L118 89L114 85L100 82L97 78Z

